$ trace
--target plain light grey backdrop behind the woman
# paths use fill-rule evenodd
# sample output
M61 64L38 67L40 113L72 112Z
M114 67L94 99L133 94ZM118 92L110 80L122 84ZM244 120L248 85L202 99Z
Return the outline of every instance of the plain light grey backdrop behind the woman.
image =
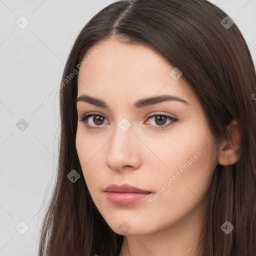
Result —
M58 158L59 98L46 94L80 29L112 2L0 0L1 256L37 255ZM239 27L256 63L256 0L211 2Z

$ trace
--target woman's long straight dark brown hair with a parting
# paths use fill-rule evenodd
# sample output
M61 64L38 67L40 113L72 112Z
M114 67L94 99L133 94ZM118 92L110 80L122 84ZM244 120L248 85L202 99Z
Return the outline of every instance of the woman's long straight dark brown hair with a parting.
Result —
M90 47L110 37L149 45L178 67L198 96L217 142L228 138L227 125L237 120L241 155L234 164L216 166L200 252L256 254L256 100L252 97L256 74L240 30L226 16L207 0L120 0L82 28L62 76L58 169L42 223L39 256L118 256L120 252L123 235L115 233L95 207L76 152L78 75L65 80L74 69L78 71ZM224 25L227 20L230 27ZM74 183L67 178L72 169L81 176ZM234 226L229 234L221 230L226 220Z

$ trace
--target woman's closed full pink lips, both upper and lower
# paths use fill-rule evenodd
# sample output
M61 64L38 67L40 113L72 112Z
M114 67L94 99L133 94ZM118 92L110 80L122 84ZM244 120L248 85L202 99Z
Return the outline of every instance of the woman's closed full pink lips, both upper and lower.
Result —
M104 189L104 193L113 204L130 205L146 198L151 192L128 184L111 184Z

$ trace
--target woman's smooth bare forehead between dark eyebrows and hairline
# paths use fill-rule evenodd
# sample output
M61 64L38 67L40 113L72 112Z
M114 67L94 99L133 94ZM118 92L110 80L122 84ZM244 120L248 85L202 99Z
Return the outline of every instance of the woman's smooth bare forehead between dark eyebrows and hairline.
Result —
M86 93L106 100L116 96L136 100L169 93L188 102L195 100L184 77L174 80L170 76L175 66L147 45L107 39L88 49L85 57L86 64L78 73L78 96Z

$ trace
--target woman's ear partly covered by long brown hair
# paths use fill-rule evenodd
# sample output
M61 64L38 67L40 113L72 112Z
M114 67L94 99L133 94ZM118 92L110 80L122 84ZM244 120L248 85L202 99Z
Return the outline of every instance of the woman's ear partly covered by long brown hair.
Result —
M222 141L219 148L218 163L220 165L234 164L241 155L241 129L235 119L228 124L227 132L227 141Z

